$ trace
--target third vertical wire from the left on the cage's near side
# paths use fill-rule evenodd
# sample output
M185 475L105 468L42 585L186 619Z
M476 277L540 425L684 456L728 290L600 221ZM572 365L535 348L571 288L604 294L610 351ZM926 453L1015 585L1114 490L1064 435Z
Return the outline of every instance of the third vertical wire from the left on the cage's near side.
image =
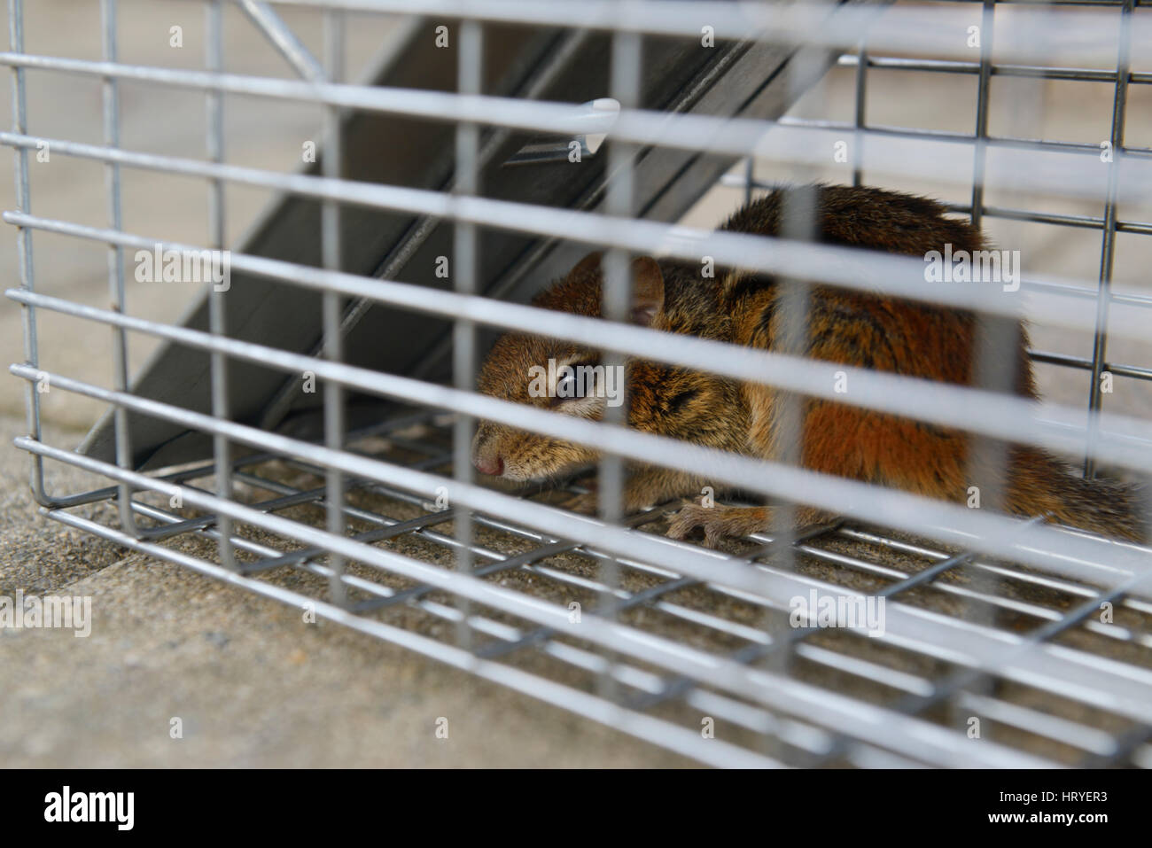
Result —
M223 69L222 50L222 7L221 0L210 0L205 12L205 65L212 74ZM209 91L205 99L205 116L207 119L207 156L211 161L223 161L223 94ZM222 251L225 244L225 184L222 180L209 181L209 247L213 251ZM219 256L219 252L217 253ZM225 297L227 292L217 290L215 285L209 285L209 330L213 335L228 334ZM228 419L228 357L219 351L212 351L212 415ZM215 463L215 490L221 498L232 497L232 461L228 439L222 433L212 437L212 455ZM235 569L236 558L232 547L232 518L227 515L217 516L220 530L218 547L220 565Z

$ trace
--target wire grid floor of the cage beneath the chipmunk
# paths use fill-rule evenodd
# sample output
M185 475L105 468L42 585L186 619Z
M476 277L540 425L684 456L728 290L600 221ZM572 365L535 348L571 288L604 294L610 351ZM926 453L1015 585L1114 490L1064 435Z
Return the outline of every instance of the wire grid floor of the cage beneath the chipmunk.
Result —
M348 448L450 474L452 433L452 416L417 412L362 431ZM212 492L213 470L200 463L165 479ZM240 502L324 525L323 468L251 454L234 462L233 480ZM132 501L141 540L66 509L47 515L703 763L1152 765L1152 601L855 523L795 539L756 535L717 553L797 592L882 599L889 627L873 637L795 626L779 595L704 583L475 514L472 575L541 613L523 618L437 584L462 547L457 510L362 478L346 485L351 538L426 563L429 580L349 560L336 604L327 550L241 522L232 525L233 571L217 562L215 516L174 509L157 493ZM554 502L578 491L525 497ZM662 533L676 506L627 525ZM1111 619L1101 620L1101 605ZM543 624L548 616L570 627Z

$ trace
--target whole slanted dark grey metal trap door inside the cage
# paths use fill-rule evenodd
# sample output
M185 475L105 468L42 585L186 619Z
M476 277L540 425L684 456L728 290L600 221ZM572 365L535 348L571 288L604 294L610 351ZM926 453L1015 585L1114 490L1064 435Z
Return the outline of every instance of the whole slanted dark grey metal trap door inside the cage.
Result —
M434 47L433 26L411 24L404 43L373 75L374 84L454 90L454 51ZM485 86L487 93L577 104L608 93L607 33L487 26L485 43L485 80L493 81ZM821 54L814 66L805 62L805 67L823 73L834 58ZM814 82L786 83L783 71L791 59L789 48L774 45L718 43L714 48L702 48L684 39L645 38L641 105L672 112L776 118L803 90L803 83ZM454 134L447 122L355 115L344 123L347 176L447 189ZM604 194L604 149L579 164L506 166L531 141L528 134L500 129L483 136L482 194L594 210ZM611 135L607 143L612 143ZM638 215L676 220L733 162L728 157L664 147L639 151L635 172ZM319 210L316 200L285 197L237 250L318 266ZM437 257L452 255L450 221L344 206L341 226L346 270L432 287L450 286L449 280L434 274ZM518 233L482 230L480 290L526 300L586 250L585 245ZM316 293L235 274L226 302L229 335L297 351L316 353L323 346L320 297ZM185 323L207 328L206 301ZM431 380L449 376L449 324L445 320L354 303L344 331L346 359L353 364ZM233 417L301 436L318 434L321 395L304 394L298 376L286 378L271 369L229 363ZM138 395L202 411L211 410L210 388L209 357L175 346L164 348L134 384ZM388 406L379 399L355 396L349 403L353 427L371 423ZM130 426L137 467L160 468L211 455L211 439L200 433L142 416L131 416ZM114 457L111 418L97 424L82 449L100 459Z

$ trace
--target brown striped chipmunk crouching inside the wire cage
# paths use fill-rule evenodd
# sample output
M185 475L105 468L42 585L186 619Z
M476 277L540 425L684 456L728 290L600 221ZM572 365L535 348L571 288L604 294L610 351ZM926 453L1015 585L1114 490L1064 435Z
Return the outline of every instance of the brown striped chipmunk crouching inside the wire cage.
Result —
M978 229L946 218L945 207L927 198L862 187L817 186L810 190L814 192L814 236L821 242L920 257L943 250L946 244L956 251L984 248ZM776 235L785 191L778 189L750 203L721 229ZM540 293L533 304L600 317L600 253L589 255ZM734 268L717 268L713 278L705 278L700 266L651 257L635 259L631 268L635 323L763 350L780 348L785 325L776 278ZM803 349L796 353L967 386L975 381L976 324L972 313L961 310L813 286ZM1036 399L1026 348L1026 334L1020 326L1013 388L1018 395ZM493 346L479 372L478 387L503 400L601 418L606 401L594 393L585 391L581 396L571 385L530 392L532 368L540 374L550 359L594 365L600 351L530 333L508 333ZM548 379L555 379L556 371L553 368ZM570 381L571 374L563 373L562 379ZM628 361L626 380L629 426L766 460L783 453L782 427L774 415L778 392L771 386L643 359ZM969 486L982 478L979 462L969 468L976 453L971 437L962 431L823 399L803 398L801 403L801 445L793 453L806 469L949 501L967 500ZM480 422L472 444L473 464L480 472L511 480L555 478L598 456L592 447L492 422ZM1145 538L1143 495L1135 485L1077 477L1067 464L1033 447L1008 445L1001 456L1007 457L1002 491L1007 510L1108 536ZM623 508L635 512L697 495L707 483L683 471L629 465ZM582 495L570 506L591 510L594 494ZM775 517L772 507L688 504L672 520L668 535L685 538L703 530L705 544L714 546L723 537L773 529ZM794 513L799 525L825 517L810 507Z

